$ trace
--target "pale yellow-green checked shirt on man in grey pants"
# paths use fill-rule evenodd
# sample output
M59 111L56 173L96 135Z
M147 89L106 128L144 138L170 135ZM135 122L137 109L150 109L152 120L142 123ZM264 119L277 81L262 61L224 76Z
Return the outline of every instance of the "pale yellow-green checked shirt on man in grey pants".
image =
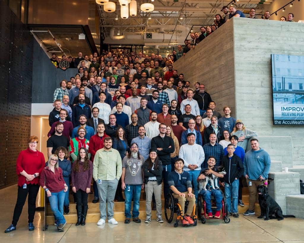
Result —
M111 148L110 151L105 151L105 148L102 148L97 150L93 162L94 181L98 179L112 181L115 178L119 180L122 170L121 157L116 149Z

